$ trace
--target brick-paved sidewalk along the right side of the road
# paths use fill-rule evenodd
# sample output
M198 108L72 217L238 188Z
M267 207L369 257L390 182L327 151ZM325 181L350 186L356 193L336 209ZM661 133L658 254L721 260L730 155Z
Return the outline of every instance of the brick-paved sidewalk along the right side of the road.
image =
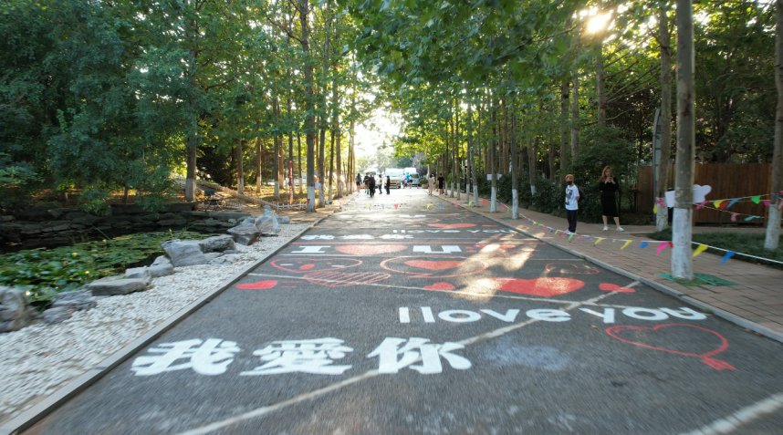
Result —
M455 203L450 196L439 198ZM653 225L623 225L625 232L620 233L614 230L613 224L609 231L604 232L602 224L579 222L577 236L569 238L563 233L568 227L565 218L520 208L519 219L512 220L510 206L504 208L498 203L498 211L489 212L488 201L468 207L464 194L461 199L460 206L467 210L516 227L593 263L712 311L739 326L783 342L783 270L736 259L720 264L721 256L705 252L694 258L694 274L709 274L729 281L730 285L680 285L661 276L671 274L672 250L667 247L658 254L659 243L652 243L644 236L655 231ZM694 229L703 230L699 227ZM599 237L605 239L599 241ZM622 246L629 240L632 243L623 249ZM641 248L645 240L651 240L651 243Z

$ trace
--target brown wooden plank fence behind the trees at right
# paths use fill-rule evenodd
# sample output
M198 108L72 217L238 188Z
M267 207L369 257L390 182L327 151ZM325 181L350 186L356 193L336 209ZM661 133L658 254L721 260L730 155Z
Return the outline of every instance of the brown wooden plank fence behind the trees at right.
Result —
M636 181L636 208L639 212L653 212L655 192L653 187L653 167L642 166ZM707 201L755 196L770 193L772 188L771 163L704 163L697 164L694 171L694 183L708 185L712 191ZM667 186L674 187L674 165L669 167ZM768 197L765 197L768 199ZM710 207L714 207L711 203ZM764 204L744 200L731 207L731 212L762 216L751 223L763 225L767 221L767 209ZM694 210L694 223L732 223L731 212L718 212L710 208ZM738 215L737 223L744 223L746 216Z

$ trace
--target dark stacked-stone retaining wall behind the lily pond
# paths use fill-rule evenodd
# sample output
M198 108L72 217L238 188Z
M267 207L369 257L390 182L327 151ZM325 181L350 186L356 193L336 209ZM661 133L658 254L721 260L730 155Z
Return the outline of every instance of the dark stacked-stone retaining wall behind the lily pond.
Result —
M108 216L71 208L39 208L0 215L0 250L63 246L106 236L183 228L224 233L249 216L245 212L202 212L194 208L193 203L176 203L162 212L145 212L135 204L114 204Z

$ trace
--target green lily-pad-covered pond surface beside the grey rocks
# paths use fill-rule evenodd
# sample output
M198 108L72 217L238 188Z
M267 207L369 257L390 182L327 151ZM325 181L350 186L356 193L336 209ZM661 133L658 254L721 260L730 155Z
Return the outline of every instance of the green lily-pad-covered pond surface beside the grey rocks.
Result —
M40 248L0 255L0 285L23 288L30 302L46 308L55 295L77 290L129 267L147 265L164 254L161 243L172 239L198 240L213 234L188 231L137 233L113 239Z

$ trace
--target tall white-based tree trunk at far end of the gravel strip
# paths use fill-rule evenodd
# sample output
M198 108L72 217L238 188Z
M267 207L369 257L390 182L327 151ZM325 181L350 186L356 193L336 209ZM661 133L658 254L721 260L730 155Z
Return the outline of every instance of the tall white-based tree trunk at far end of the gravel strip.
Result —
M313 64L310 61L309 43L309 0L298 0L299 23L301 24L301 45L304 52L305 65L305 133L308 142L308 204L307 211L316 211L316 186L315 186L315 119L313 115Z

